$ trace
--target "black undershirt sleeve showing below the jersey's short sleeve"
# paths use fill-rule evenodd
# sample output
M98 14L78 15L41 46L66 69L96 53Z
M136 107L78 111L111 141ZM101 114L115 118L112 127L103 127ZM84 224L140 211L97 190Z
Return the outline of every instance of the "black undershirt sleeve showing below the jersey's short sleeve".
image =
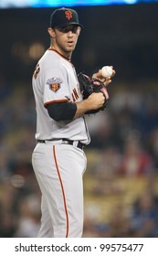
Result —
M55 121L72 120L77 111L73 102L53 102L46 105L49 116Z

